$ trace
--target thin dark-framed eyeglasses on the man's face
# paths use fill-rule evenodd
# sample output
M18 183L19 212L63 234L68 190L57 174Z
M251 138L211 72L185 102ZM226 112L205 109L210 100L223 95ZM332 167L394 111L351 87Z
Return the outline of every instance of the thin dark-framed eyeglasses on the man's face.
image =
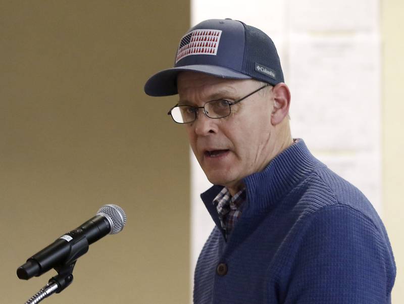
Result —
M206 116L209 118L223 118L227 117L231 113L231 106L238 104L241 102L241 100L244 100L245 98L251 96L254 93L257 93L259 90L262 90L263 88L270 86L270 84L266 84L259 89L255 90L252 93L249 93L248 95L238 99L235 102L229 102L226 99L218 99L218 100L211 100L210 102L205 103L203 107L192 107L192 106L174 106L173 108L170 109L170 111L167 113L168 115L171 115L173 120L176 123L179 124L187 124L195 121L198 113L198 109L204 109L204 113Z

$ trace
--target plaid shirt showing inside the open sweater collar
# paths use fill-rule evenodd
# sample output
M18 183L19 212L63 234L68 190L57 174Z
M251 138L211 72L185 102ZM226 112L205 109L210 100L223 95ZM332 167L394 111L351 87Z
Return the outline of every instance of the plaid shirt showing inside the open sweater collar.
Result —
M234 196L231 196L226 187L213 200L213 205L216 206L216 210L218 211L222 228L226 232L226 239L228 239L234 225L241 216L244 201L245 188L238 191Z

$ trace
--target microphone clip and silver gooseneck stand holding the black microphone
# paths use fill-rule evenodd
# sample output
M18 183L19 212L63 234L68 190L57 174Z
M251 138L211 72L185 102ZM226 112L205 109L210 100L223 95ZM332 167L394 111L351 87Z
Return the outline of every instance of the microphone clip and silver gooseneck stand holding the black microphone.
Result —
M33 295L25 304L36 304L44 298L61 292L73 282L73 268L77 259L84 255L88 250L88 241L86 237L82 237L71 244L70 255L67 261L54 269L58 275L49 279L48 283L43 286L35 295Z

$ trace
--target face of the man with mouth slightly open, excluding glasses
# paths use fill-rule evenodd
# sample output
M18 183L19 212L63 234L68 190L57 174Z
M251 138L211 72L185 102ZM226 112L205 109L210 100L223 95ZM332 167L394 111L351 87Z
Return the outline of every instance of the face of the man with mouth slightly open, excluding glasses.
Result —
M230 80L202 73L182 72L177 79L179 104L202 107L214 99L234 102L262 83ZM269 163L271 139L271 87L231 106L231 115L212 119L199 109L197 119L185 124L193 153L209 181L238 190L242 178Z

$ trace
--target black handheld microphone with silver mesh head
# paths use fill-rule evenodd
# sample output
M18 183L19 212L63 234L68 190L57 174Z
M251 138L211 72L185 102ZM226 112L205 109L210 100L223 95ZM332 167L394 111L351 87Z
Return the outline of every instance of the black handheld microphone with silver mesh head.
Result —
M120 232L126 224L126 214L117 205L101 207L96 215L76 229L65 233L43 248L17 269L17 276L28 280L52 268L76 261L88 251L88 245L106 236Z

